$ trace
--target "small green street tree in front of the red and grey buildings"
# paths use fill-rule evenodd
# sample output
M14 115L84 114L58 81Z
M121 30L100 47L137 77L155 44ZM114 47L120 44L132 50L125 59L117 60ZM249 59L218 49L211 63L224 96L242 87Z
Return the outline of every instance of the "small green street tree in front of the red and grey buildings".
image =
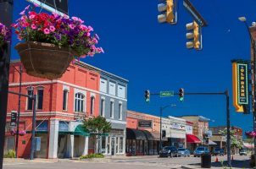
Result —
M90 133L92 142L94 144L94 150L100 153L100 146L97 146L99 140L101 140L103 134L108 134L111 130L111 123L109 123L105 117L89 117L83 123L83 128L86 132Z

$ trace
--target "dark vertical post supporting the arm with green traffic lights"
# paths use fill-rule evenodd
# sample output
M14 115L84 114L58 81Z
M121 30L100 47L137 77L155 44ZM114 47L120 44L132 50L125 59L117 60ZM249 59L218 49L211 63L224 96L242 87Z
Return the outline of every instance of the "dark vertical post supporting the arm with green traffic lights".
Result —
M225 90L226 98L226 144L227 144L227 164L231 167L231 119L230 119L230 96Z

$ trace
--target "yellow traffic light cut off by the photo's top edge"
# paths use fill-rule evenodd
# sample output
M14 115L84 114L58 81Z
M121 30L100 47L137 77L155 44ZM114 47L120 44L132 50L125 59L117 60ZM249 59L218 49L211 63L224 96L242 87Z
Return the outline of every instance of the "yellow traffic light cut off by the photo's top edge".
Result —
M159 23L170 23L176 24L177 22L177 12L176 12L176 0L166 0L166 3L159 3L158 5L159 14L158 20Z

